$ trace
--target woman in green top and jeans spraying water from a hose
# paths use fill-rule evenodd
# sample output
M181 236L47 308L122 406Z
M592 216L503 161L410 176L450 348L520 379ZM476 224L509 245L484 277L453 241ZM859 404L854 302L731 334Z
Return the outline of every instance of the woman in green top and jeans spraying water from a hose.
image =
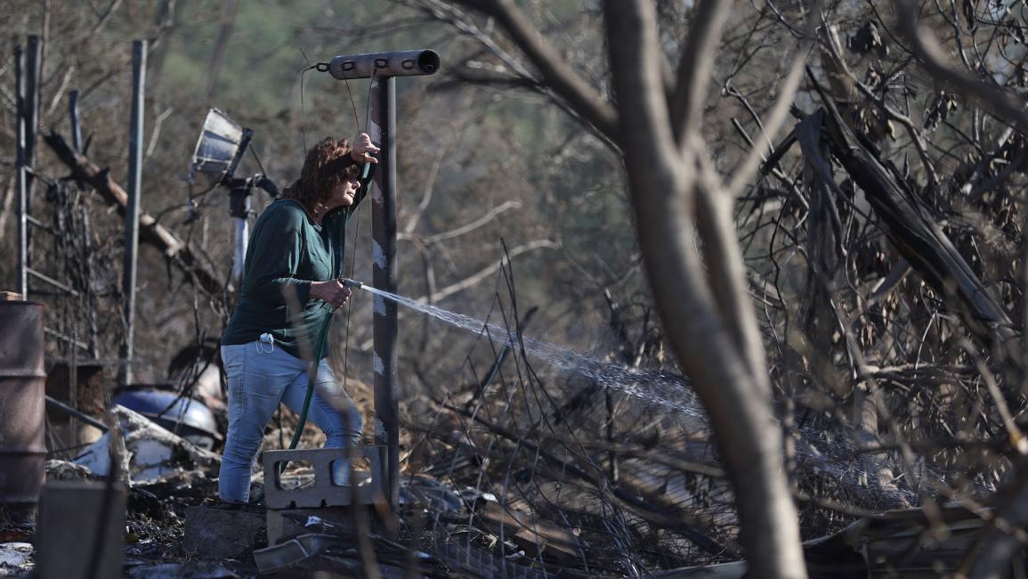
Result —
M318 329L351 295L336 279L346 220L366 193L361 166L378 162L376 152L366 133L353 146L345 140L318 143L307 152L300 178L254 225L240 300L221 339L228 374L228 435L218 481L222 502L249 500L250 471L279 403L297 413L302 409ZM364 422L360 411L324 358L317 367L309 420L325 432L326 448L357 444Z

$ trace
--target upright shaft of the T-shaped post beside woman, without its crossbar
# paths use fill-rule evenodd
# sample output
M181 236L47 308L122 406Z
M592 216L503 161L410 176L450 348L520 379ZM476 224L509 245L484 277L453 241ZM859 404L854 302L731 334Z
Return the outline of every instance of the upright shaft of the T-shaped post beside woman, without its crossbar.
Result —
M371 184L372 283L396 293L396 79L371 80L371 140L381 158ZM391 505L400 497L400 424L396 394L397 304L374 298L375 444L388 447L387 482Z

